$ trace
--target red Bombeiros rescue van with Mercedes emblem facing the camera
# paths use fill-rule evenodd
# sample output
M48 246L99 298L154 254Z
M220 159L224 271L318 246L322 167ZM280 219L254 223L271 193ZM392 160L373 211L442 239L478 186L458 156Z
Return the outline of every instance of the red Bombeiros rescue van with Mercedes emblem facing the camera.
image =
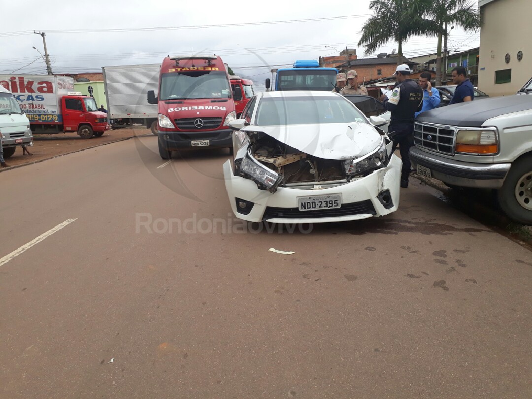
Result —
M148 103L158 104L162 159L171 159L172 151L179 149L232 150L232 130L227 125L236 119L235 102L219 56L165 57L159 95L149 90Z

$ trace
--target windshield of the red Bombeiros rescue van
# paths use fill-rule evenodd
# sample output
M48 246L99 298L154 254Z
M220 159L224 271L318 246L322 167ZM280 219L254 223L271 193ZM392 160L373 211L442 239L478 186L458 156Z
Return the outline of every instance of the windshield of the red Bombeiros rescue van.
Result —
M226 72L201 71L163 74L161 100L195 98L231 98L231 88Z

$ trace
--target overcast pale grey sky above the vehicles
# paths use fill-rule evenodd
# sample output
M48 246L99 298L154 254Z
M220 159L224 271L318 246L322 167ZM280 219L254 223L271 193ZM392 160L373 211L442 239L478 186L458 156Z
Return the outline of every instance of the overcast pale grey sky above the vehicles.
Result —
M372 15L370 0L336 2L307 0L250 1L72 1L1 0L0 73L46 73L43 40L32 31L46 32L54 73L102 71L102 66L161 63L164 56L217 54L242 77L261 90L269 72L295 60L312 60L356 48L363 23ZM476 0L475 0L476 3ZM9 9L12 10L9 10ZM355 17L330 19L339 16ZM318 19L289 23L249 24ZM241 25L247 23L248 25ZM237 26L220 26L237 24ZM109 31L156 27L209 26L209 28ZM64 32L70 30L70 32ZM73 30L93 30L76 32ZM107 31L106 31L107 30ZM54 32L55 31L55 32ZM20 32L14 34L13 32ZM479 45L479 32L453 29L448 47L465 51ZM326 48L325 46L333 46ZM403 46L406 56L435 53L436 38L414 37ZM389 43L377 53L392 52ZM359 58L365 55L357 48ZM29 65L28 65L29 64ZM267 66L264 66L267 65ZM250 68L259 66L258 68Z

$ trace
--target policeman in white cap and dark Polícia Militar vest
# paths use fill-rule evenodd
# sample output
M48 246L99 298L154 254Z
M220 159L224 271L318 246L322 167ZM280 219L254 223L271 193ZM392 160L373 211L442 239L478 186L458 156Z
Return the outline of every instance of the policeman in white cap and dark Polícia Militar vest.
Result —
M418 82L410 79L410 66L398 65L395 69L397 86L393 89L391 98L380 96L386 110L390 111L388 136L394 145L392 153L399 145L403 167L401 168L401 187L408 187L410 176L410 147L414 145L414 115L423 107L423 89Z

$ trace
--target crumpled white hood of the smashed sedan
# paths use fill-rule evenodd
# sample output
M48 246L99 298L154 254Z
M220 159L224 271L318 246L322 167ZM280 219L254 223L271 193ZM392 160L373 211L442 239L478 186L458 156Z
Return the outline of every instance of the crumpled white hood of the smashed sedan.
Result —
M322 159L350 159L375 151L382 136L368 123L246 126L242 131L264 132L305 154Z

